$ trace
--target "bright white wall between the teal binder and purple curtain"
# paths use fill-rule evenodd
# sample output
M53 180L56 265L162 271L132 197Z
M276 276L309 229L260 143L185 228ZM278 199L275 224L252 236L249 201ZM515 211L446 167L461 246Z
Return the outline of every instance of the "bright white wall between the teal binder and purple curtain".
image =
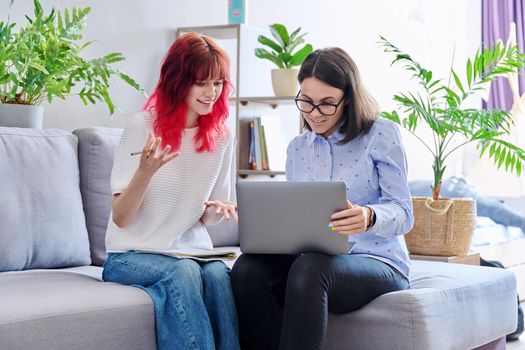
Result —
M278 10L271 16L268 9ZM393 57L379 48L379 34L443 78L448 77L454 51L454 67L463 71L467 57L481 42L481 2L477 0L266 0L251 1L249 11L250 25L282 21L290 27L302 26L315 47L347 50L383 110L395 107L394 93L413 85L407 73L390 66ZM404 139L409 177L431 178L430 154L409 133L404 133ZM460 174L458 163L457 157L451 158L448 175Z

